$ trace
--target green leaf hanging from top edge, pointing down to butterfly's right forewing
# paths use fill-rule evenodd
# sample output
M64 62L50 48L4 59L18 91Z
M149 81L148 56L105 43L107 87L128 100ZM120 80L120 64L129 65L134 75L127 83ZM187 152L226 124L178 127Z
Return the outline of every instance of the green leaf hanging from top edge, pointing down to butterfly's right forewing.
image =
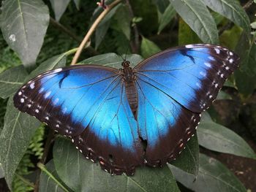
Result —
M174 9L181 18L205 43L218 44L217 26L202 1L195 0L170 0Z

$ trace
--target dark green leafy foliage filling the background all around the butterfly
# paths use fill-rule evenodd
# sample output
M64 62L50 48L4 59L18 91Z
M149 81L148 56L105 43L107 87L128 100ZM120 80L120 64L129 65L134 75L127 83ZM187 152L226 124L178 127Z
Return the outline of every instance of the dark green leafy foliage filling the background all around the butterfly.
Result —
M241 56L239 70L203 114L197 137L180 157L161 169L140 167L134 177L110 177L69 139L12 104L24 82L71 63L74 48L103 11L97 1L0 2L0 191L256 190L255 1L126 0L99 23L81 64L118 68L118 55L138 64L167 47L201 42Z

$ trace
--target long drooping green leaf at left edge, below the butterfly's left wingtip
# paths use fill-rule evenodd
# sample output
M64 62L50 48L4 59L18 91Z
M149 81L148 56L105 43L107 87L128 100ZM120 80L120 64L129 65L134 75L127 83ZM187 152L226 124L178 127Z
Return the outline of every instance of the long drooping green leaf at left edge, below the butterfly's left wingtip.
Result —
M9 188L15 169L39 125L40 122L36 118L16 110L10 97L4 117L4 128L0 135L0 162Z

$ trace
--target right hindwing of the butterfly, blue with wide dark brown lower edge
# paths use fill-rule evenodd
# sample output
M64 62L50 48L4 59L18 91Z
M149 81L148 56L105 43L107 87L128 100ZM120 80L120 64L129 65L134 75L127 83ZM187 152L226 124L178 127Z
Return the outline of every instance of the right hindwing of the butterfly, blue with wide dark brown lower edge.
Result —
M138 127L147 141L146 164L159 166L176 158L195 134L200 114L178 104L150 82L138 80Z

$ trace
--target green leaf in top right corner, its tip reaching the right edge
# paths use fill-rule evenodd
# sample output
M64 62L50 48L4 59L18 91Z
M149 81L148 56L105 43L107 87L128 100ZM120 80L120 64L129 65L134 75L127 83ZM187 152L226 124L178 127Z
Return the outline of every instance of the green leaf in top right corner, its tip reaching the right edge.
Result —
M243 7L241 7L239 1L203 0L203 2L215 12L219 12L219 14L232 20L233 23L236 23L236 25L244 28L244 31L246 31L246 34L249 36L251 31L249 17Z

